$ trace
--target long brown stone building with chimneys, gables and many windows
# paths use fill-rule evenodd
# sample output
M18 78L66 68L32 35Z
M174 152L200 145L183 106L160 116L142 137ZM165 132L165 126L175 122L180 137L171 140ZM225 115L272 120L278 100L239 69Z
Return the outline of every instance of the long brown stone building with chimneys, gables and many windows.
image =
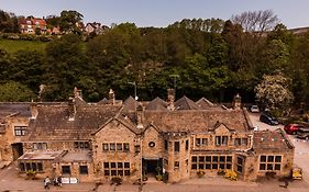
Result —
M255 132L239 95L233 106L205 98L176 101L173 90L167 101L130 97L122 102L110 91L109 99L86 103L75 89L68 102L29 104L24 136L9 143L22 144L21 173L35 170L81 182L158 174L179 182L227 169L243 180L288 176L294 146L285 133Z

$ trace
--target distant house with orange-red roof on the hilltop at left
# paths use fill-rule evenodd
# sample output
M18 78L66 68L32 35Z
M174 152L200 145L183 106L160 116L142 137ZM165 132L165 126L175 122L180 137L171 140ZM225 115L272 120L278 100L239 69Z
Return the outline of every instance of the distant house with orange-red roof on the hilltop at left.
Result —
M47 24L44 19L26 18L19 20L21 33L35 34L35 30L40 29L41 34L45 34Z

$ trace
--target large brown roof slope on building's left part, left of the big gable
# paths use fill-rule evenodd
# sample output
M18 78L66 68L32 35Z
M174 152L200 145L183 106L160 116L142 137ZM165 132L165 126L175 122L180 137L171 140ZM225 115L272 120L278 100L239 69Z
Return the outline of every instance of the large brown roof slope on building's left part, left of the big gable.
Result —
M31 120L26 140L88 140L91 132L114 117L120 105L79 105L69 121L68 104L38 105L37 116Z

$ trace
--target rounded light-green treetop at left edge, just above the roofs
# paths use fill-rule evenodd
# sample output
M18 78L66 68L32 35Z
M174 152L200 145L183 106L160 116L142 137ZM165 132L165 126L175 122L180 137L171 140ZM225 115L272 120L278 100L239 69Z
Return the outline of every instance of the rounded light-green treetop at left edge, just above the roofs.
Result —
M24 102L36 100L36 95L24 84L10 81L0 84L1 102Z

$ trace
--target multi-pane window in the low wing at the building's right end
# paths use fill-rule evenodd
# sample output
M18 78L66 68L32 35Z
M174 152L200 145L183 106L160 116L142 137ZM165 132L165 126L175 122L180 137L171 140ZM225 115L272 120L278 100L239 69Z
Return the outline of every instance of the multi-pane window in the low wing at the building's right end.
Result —
M260 156L260 170L282 170L282 156Z

